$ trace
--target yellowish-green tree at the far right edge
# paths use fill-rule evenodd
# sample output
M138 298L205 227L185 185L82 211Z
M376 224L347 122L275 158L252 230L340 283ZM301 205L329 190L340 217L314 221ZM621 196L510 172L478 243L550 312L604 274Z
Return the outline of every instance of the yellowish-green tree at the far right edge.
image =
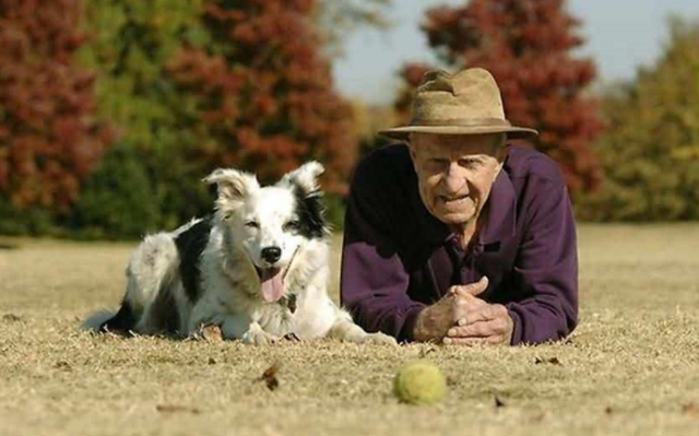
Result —
M699 219L699 22L673 17L670 35L657 62L604 102L605 178L584 217Z

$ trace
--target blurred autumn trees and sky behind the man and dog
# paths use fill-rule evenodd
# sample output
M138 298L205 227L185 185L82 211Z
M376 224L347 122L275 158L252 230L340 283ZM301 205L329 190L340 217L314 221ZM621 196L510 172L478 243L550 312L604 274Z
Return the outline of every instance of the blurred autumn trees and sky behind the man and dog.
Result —
M216 167L357 160L426 69L481 66L584 221L699 219L696 0L0 0L0 235L134 238Z

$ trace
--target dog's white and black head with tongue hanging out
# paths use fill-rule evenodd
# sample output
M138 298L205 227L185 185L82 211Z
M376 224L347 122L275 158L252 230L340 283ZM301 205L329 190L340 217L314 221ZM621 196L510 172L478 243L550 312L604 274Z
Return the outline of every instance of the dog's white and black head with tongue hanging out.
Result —
M216 222L225 244L245 249L268 302L282 297L282 280L299 247L325 234L317 185L322 172L321 164L309 162L268 187L237 169L216 169L204 178L217 187Z

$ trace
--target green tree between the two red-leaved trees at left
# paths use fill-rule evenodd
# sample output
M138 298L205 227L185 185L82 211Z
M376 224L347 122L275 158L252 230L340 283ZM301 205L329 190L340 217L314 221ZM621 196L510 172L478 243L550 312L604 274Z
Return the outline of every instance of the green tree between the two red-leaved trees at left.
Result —
M168 73L183 45L209 44L200 20L203 3L91 0L85 8L92 42L81 59L99 71L100 113L118 126L125 150L145 165L153 193L149 201L161 211L158 225L167 228L211 208L200 182L204 170L192 157L205 141L198 127L200 114L192 96Z

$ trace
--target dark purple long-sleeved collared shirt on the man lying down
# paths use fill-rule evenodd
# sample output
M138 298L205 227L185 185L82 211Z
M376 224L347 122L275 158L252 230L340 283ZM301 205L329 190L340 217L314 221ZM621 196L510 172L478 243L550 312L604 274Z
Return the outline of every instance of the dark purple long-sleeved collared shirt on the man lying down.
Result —
M350 192L340 296L368 331L412 340L417 314L451 285L489 279L479 295L508 308L512 344L560 339L578 322L570 199L556 164L510 146L466 250L425 208L405 145L364 158Z

